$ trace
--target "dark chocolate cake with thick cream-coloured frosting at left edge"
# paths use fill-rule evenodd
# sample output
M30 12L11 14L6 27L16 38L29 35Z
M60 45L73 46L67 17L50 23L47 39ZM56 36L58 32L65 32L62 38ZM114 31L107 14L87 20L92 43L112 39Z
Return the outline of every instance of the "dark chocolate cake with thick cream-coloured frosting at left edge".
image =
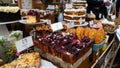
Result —
M0 22L20 20L20 8L10 6L0 6Z

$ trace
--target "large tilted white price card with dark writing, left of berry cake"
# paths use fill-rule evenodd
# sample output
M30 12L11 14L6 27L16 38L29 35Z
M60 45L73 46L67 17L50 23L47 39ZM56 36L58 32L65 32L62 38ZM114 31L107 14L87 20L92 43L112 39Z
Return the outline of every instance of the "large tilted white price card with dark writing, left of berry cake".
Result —
M16 42L17 52L21 52L29 47L33 46L32 36L26 37Z

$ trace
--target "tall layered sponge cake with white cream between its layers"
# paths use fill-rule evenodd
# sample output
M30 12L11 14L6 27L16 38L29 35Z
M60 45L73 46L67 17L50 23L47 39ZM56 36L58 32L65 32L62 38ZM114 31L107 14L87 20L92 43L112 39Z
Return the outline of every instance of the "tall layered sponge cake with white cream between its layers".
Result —
M64 22L73 23L74 25L81 25L85 23L86 8L80 7L78 9L65 9Z

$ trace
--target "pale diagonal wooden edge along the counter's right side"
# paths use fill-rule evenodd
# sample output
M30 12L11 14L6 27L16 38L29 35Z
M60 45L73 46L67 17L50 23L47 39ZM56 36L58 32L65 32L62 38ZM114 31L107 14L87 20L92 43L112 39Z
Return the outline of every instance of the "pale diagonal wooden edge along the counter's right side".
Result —
M95 63L91 66L91 68L98 68L98 67L102 66L102 64L105 62L105 57L109 53L114 42L115 42L115 37L110 42L110 44L107 46L106 50L100 55L100 57L98 59L96 59Z

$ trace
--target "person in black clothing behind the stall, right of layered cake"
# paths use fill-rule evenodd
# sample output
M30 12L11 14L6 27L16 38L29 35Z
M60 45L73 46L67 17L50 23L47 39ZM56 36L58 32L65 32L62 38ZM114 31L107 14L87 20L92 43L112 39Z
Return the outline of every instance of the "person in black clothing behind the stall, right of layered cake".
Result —
M91 11L96 15L96 19L100 19L101 17L107 18L107 8L106 6L111 5L111 2L109 0L87 0L88 7L87 7L87 13L90 13Z

